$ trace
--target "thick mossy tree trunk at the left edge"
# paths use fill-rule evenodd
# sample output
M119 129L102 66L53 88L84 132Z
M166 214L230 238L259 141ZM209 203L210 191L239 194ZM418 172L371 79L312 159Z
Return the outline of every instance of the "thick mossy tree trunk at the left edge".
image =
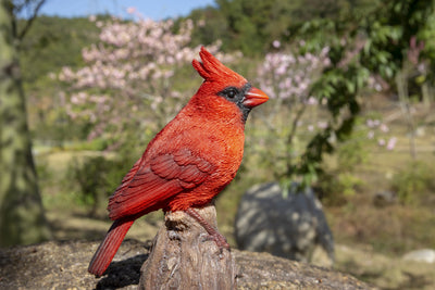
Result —
M11 1L0 0L0 247L48 239L32 156Z

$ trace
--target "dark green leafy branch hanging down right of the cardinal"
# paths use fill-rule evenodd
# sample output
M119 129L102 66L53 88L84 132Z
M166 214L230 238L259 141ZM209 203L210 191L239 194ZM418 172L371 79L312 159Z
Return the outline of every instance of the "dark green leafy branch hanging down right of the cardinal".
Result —
M427 29L426 18L433 14L434 1L389 0L369 14L350 10L339 18L313 20L293 29L291 40L309 39L304 50L330 46L332 66L324 70L310 94L327 100L334 123L314 136L302 156L303 164L290 175L301 175L304 181L316 179L323 153L334 150L331 137L343 141L352 131L360 112L358 94L365 89L370 74L393 83L406 61L410 39ZM435 59L428 61L435 63Z

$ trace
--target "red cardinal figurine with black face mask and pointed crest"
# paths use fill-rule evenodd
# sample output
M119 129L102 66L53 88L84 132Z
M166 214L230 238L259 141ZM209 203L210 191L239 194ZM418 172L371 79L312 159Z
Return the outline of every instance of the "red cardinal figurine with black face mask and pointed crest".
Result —
M136 218L162 209L185 211L222 248L225 238L196 207L209 204L236 175L244 154L245 123L268 96L203 47L192 65L204 79L197 93L156 137L109 200L114 220L89 264L101 276Z

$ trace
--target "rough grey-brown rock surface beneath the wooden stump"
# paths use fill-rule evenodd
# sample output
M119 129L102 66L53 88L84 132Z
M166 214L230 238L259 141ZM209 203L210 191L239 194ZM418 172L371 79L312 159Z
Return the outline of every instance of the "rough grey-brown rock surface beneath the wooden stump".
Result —
M125 240L107 274L87 273L99 242L65 241L0 250L0 289L136 289L148 250ZM346 274L233 249L238 289L371 289Z

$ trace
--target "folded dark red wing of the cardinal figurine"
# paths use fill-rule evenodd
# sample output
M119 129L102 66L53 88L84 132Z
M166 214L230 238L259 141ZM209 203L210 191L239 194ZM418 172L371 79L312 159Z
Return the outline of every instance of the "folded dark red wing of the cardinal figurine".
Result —
M212 171L208 161L188 149L159 155L148 164L139 160L110 198L109 216L117 219L159 210L171 197L200 185Z

